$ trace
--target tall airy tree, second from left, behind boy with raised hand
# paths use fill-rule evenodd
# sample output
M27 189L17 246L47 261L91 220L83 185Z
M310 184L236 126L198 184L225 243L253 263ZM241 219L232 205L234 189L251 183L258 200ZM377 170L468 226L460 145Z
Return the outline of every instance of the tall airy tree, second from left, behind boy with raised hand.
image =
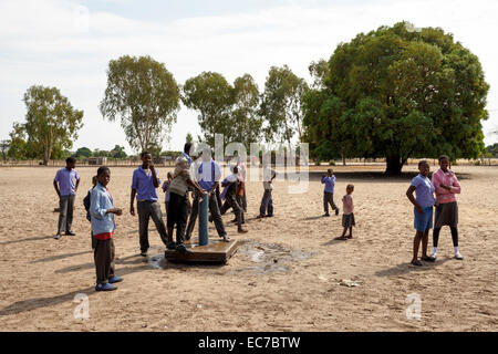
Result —
M169 138L179 111L179 88L163 63L151 56L124 55L108 64L100 110L111 122L121 118L132 148L146 150Z

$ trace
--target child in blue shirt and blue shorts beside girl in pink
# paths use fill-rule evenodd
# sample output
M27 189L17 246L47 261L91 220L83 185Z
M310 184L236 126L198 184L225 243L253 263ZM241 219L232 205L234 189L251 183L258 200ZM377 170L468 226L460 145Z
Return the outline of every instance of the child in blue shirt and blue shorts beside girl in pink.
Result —
M412 179L412 185L406 190L406 197L414 205L414 226L415 226L415 239L413 241L413 266L422 266L422 262L417 259L418 248L422 240L422 257L423 261L433 261L427 257L427 241L429 229L433 228L433 207L436 200L434 199L434 185L427 178L430 167L426 160L418 163L418 176ZM413 192L416 191L416 199L413 197Z

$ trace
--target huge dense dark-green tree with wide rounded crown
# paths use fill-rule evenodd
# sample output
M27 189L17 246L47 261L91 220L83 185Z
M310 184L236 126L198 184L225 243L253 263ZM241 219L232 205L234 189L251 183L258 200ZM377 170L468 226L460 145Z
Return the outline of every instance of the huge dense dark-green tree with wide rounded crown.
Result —
M310 148L322 158L477 158L489 85L479 60L439 28L406 22L360 33L329 60L322 88L303 104Z

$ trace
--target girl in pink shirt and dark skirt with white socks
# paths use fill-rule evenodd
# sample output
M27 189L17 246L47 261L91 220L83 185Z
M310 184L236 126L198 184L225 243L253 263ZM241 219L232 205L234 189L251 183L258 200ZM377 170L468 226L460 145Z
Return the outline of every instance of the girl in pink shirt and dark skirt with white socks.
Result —
M439 240L440 228L445 225L452 230L453 246L455 249L455 258L463 260L464 257L458 251L458 205L455 198L456 194L461 191L458 179L455 174L448 169L449 157L439 157L439 169L433 174L432 183L436 188L436 218L433 233L433 261L437 258L437 242Z

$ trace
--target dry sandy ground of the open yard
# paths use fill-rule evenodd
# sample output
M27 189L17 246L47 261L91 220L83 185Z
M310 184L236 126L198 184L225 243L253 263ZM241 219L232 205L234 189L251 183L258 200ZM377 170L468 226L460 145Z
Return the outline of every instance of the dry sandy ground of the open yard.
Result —
M326 169L326 167L321 167ZM434 170L434 167L432 167ZM225 266L181 266L162 260L164 246L151 223L151 257L138 256L137 218L117 219L118 290L94 292L90 225L82 200L95 168L79 168L75 237L54 240L55 168L1 168L1 331L497 331L497 167L456 166L460 251L453 259L444 228L436 263L408 266L413 209L405 196L415 167L383 178L382 167L335 168L335 202L355 185L355 239L334 241L341 215L323 214L320 171L307 194L276 183L276 217L256 220L261 183L248 184L249 233ZM159 175L166 176L167 168ZM132 168L113 168L110 189L127 210ZM164 195L160 192L160 198ZM342 205L341 205L342 207ZM164 206L163 206L164 210ZM217 238L212 225L210 236ZM429 241L432 249L432 240ZM343 287L341 280L357 287ZM409 294L421 320L408 320ZM89 298L90 319L74 317L76 294ZM412 298L411 298L412 299Z

